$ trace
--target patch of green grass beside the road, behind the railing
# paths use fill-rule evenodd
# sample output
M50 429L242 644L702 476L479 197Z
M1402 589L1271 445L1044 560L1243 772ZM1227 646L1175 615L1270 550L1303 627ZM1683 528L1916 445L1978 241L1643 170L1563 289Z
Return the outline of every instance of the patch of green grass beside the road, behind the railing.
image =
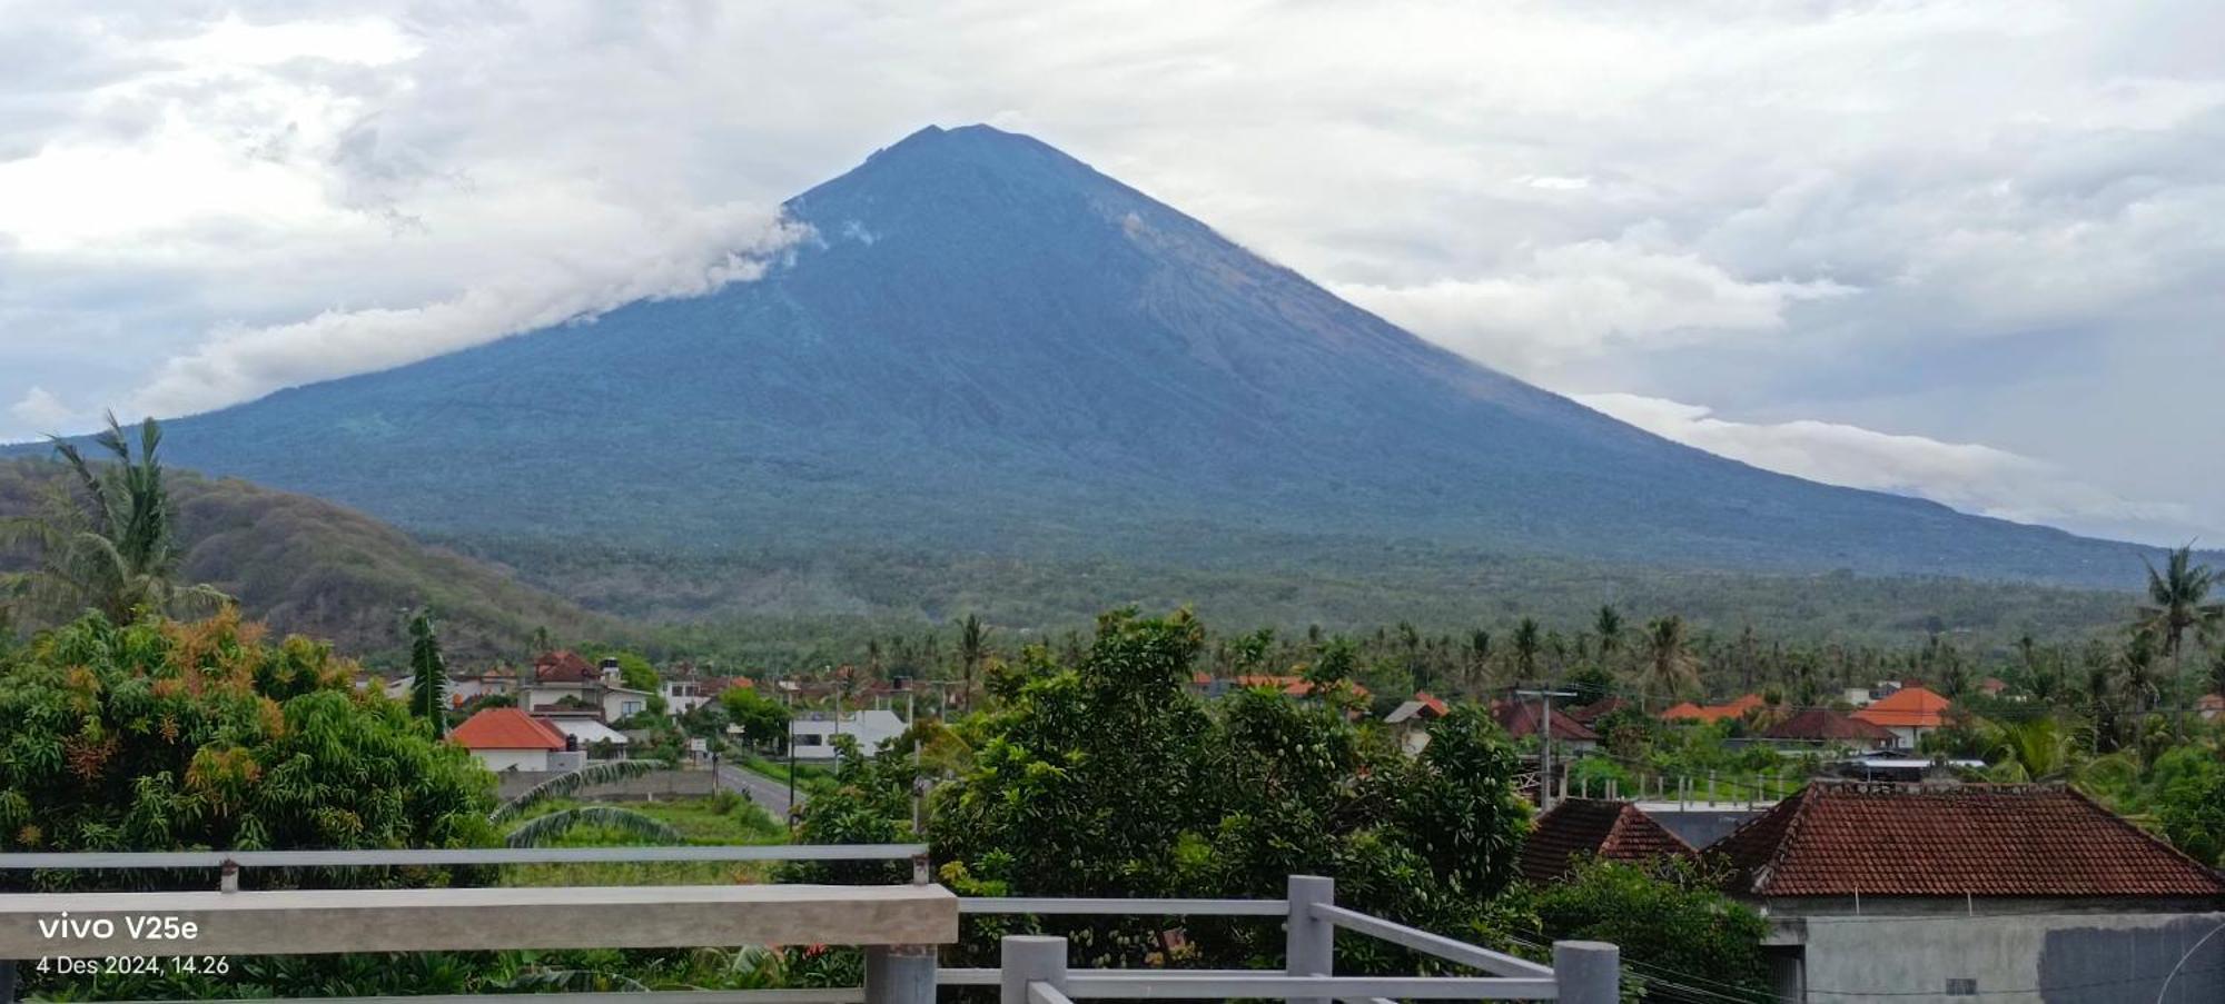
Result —
M583 802L550 800L534 806L514 826L527 820L578 809ZM670 802L627 802L632 809L663 822L696 846L730 844L781 844L788 829L765 815L754 802L721 793L712 797L683 797ZM512 826L512 829L514 829ZM639 840L607 826L578 826L550 846L632 846ZM736 882L765 882L772 864L765 862L645 862L645 864L514 864L503 869L505 886L716 886Z

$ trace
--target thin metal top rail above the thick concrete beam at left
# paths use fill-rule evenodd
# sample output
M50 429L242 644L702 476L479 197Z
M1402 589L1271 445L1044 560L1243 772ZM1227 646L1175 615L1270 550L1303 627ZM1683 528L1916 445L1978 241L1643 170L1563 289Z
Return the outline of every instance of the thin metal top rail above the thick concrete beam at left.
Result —
M443 851L154 851L0 853L0 871L383 869L578 862L901 862L926 844L485 846Z

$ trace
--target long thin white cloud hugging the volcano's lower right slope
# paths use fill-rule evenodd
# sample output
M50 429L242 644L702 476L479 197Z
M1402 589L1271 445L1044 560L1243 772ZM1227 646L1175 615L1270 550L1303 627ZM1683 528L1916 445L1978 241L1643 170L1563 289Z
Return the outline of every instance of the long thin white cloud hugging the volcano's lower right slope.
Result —
M1660 438L1813 482L2154 544L2183 544L2201 533L2196 513L2183 504L2129 502L2054 464L1976 442L1816 420L1731 422L1702 404L1635 393L1575 400Z

